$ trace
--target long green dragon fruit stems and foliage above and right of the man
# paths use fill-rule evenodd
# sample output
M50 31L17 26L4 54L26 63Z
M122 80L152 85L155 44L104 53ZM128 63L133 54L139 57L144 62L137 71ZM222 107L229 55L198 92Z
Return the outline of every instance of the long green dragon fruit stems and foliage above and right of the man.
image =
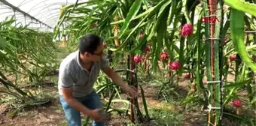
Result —
M171 97L170 94L176 94L174 89L178 86L179 80L184 79L182 75L189 73L191 78L187 81L191 83L189 86L191 92L181 104L203 101L206 107L209 104L221 107L221 104L226 105L236 98L239 89L247 89L250 102L255 102L254 98L251 98L255 89L248 81L253 77L249 74L255 71L255 62L251 57L256 55L254 48L256 37L248 37L246 43L243 39L244 30L255 30L253 9L245 9L254 7L254 2L216 1L218 3L216 17L220 22L217 21L212 25L210 22L201 22L202 17L210 15L206 1L136 0L134 3L120 0L88 1L64 7L55 34L60 32L69 34L71 46L77 45L79 38L84 34L89 32L98 34L107 43L106 52L114 53L109 55L114 61L112 66L116 66L120 61L127 63L129 69L130 63L133 63L131 62L133 57L130 55L146 56L147 62L136 63L136 70L150 74L160 72L162 77L169 80L165 82L166 80L163 79L158 83L158 85L162 84L159 95L165 97L166 101ZM221 10L224 4L232 8ZM90 5L93 7L84 9ZM114 20L114 17L118 17L118 20ZM240 18L235 20L235 17ZM70 25L59 31L64 22L69 22ZM188 37L181 36L181 28L186 23L191 23L194 28L194 34ZM117 36L114 35L114 26L118 27ZM215 28L215 31L211 32L211 28ZM211 44L209 37L219 39L212 40ZM119 40L120 46L116 46L114 40ZM145 46L151 47L150 52L145 53ZM163 51L168 52L168 61L160 60L160 52ZM235 61L231 61L229 56L236 54L238 55ZM168 64L173 61L181 63L178 70L169 70ZM150 67L147 68L145 65ZM236 79L233 82L227 81L228 75L232 72L235 73ZM131 80L129 75L130 72L126 72L128 83ZM204 86L204 77L207 81L212 81L214 77L214 80L221 80L223 83ZM104 79L100 79L99 83L104 85L98 87L99 92L111 95L109 92L113 89L112 84ZM196 85L194 89L192 84ZM224 88L224 92L221 92L221 88ZM115 90L117 93L118 89ZM179 98L179 95L175 96ZM218 121L221 111L215 112L217 115L215 118L212 116L211 120ZM213 111L210 114L213 115Z

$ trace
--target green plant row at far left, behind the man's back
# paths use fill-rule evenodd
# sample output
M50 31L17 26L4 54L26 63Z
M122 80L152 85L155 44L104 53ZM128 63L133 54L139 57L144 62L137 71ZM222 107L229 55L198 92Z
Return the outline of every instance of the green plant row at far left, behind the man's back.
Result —
M12 26L14 17L0 23L0 93L3 98L14 98L11 107L15 110L8 114L14 116L23 107L38 106L50 101L47 95L36 95L29 89L21 89L21 84L38 85L44 77L56 70L54 64L53 34L35 31L27 26ZM9 80L7 76L14 78ZM23 82L22 79L29 81Z

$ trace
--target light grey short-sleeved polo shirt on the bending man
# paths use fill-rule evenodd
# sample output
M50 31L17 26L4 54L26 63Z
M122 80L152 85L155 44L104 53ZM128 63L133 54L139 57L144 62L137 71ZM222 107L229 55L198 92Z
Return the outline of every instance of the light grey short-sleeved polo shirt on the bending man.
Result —
M101 69L108 67L108 60L103 57L102 61L94 62L89 71L84 69L79 62L79 51L72 52L64 58L59 66L59 95L60 89L73 88L74 97L83 97L93 92L93 84L96 82Z

